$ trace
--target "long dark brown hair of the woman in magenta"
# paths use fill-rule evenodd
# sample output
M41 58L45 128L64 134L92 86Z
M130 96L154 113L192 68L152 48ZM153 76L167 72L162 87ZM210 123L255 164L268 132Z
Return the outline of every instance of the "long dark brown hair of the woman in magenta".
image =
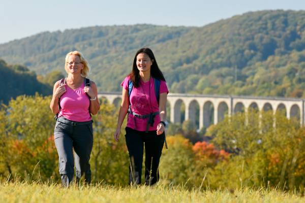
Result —
M133 85L135 87L139 87L139 80L140 80L140 71L138 70L137 67L137 56L140 53L145 53L148 55L148 57L150 58L151 61L153 61L153 64L150 66L150 76L153 78L156 78L158 80L162 80L165 81L165 78L163 76L163 73L160 71L159 66L157 64L155 55L153 53L153 51L151 51L151 49L149 48L141 48L136 52L135 58L134 58L134 62L132 65L132 71L130 72L129 76L130 76L130 80L132 81Z

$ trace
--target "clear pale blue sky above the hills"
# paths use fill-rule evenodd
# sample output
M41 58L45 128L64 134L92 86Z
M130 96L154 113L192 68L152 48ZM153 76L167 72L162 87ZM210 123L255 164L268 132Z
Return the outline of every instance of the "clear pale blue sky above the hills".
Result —
M305 0L3 0L0 44L42 31L95 25L203 26L258 10L305 10Z

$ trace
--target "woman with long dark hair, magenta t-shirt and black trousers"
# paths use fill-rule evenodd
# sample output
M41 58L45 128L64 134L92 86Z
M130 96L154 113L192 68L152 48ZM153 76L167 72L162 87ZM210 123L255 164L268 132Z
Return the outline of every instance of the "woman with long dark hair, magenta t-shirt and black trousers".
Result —
M126 114L126 145L130 156L129 182L141 184L145 146L145 184L159 180L159 162L165 141L168 88L153 51L136 52L131 73L121 83L122 103L114 139L118 141ZM158 99L159 98L159 99Z

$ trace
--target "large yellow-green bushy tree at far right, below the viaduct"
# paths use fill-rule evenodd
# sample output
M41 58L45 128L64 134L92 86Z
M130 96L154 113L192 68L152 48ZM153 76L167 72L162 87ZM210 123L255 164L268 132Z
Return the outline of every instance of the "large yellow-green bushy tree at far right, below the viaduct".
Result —
M250 124L249 118L257 118L259 113L261 121L252 120ZM227 163L218 164L211 172L210 180L216 187L303 186L305 135L299 121L289 120L280 112L275 115L272 111L249 112L248 117L237 114L226 118L213 131L216 146L232 152Z

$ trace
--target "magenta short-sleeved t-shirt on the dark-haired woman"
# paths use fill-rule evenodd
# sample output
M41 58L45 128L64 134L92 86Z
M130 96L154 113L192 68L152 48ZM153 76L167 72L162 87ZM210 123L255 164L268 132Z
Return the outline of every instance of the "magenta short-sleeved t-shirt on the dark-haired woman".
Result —
M130 77L127 76L121 83L124 89L128 92L128 81ZM149 91L150 90L150 91ZM168 88L165 81L160 81L160 94L167 92ZM131 110L139 115L146 115L150 113L159 112L159 105L155 93L154 78L150 78L149 81L143 82L140 80L139 87L133 86L133 90L130 95ZM138 131L145 131L148 118L137 118L132 114L128 114L127 127ZM156 115L153 126L149 125L148 130L157 130L157 125L160 123L160 115Z

